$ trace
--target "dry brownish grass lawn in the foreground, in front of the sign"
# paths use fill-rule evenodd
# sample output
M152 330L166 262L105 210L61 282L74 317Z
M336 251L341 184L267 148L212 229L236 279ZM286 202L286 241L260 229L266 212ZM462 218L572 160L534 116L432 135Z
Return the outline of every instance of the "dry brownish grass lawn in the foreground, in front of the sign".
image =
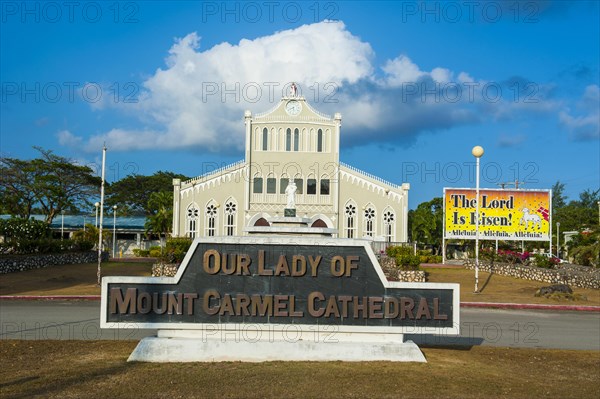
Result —
M598 398L600 353L423 348L428 363L128 363L132 341L0 341L5 399ZM8 366L10 364L10 366Z

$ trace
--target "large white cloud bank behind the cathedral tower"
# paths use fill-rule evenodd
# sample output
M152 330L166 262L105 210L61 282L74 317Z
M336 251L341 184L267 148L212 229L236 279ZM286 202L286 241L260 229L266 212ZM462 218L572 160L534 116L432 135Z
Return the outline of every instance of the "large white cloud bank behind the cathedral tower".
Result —
M414 138L422 131L521 112L519 107L507 107L504 98L488 101L481 93L486 82L467 72L452 82L453 71L442 66L424 71L406 55L374 66L370 44L352 35L343 22L303 25L206 50L200 45L196 33L178 39L169 49L166 66L143 82L136 103L111 105L135 115L141 127L115 127L80 144L96 149L106 142L122 151L238 150L244 145L244 110L270 109L290 82L300 85L309 102L333 94L337 102L321 102L316 108L342 113L348 142ZM479 87L469 93L467 83ZM91 106L100 110L106 102ZM69 134L62 140L77 143L79 138Z

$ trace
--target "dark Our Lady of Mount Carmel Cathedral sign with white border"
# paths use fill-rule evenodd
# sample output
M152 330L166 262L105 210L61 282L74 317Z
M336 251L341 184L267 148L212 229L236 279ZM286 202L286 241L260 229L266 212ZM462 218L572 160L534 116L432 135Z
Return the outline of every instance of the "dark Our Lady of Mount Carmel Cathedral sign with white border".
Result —
M364 241L203 238L175 277L103 278L101 326L458 334L458 290L457 284L388 282Z

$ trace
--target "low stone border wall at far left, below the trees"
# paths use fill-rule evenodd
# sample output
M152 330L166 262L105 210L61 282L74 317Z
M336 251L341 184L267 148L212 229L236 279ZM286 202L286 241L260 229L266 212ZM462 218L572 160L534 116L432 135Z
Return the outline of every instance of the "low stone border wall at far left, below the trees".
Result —
M102 260L108 260L108 252L102 253ZM59 254L18 255L0 258L0 274L24 272L49 266L72 265L98 262L98 252L65 252Z

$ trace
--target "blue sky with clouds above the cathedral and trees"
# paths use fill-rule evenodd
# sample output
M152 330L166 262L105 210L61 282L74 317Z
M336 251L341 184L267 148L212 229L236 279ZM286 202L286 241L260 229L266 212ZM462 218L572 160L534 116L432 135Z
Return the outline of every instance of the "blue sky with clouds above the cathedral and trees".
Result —
M600 186L596 1L1 3L0 151L107 180L243 158L243 112L297 82L340 158L410 207L443 187Z

